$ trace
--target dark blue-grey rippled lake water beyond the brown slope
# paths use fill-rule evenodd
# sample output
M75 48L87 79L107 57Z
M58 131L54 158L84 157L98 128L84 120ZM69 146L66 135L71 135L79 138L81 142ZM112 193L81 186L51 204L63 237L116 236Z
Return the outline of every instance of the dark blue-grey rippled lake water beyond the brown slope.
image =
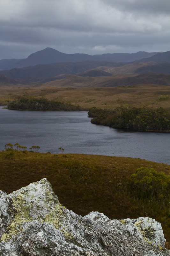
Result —
M0 106L0 150L7 143L40 152L124 156L170 164L170 133L132 132L90 123L87 112L9 110Z

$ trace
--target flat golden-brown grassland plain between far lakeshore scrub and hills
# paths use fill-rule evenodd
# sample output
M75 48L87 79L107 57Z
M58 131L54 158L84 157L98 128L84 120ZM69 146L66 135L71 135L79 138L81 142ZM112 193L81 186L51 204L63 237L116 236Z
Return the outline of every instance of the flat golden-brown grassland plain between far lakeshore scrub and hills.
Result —
M163 107L170 111L170 99L159 101L160 95L170 97L170 86L156 84L137 84L129 87L105 88L0 88L0 104L7 104L24 94L33 97L45 97L49 100L58 100L78 104L85 108L115 108L128 104L132 106Z

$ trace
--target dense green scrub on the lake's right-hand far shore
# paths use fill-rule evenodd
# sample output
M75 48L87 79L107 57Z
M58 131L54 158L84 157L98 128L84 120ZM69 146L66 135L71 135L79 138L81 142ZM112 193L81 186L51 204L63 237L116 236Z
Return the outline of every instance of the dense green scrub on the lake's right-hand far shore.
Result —
M92 124L142 131L170 131L170 113L164 108L120 106L114 110L91 108Z

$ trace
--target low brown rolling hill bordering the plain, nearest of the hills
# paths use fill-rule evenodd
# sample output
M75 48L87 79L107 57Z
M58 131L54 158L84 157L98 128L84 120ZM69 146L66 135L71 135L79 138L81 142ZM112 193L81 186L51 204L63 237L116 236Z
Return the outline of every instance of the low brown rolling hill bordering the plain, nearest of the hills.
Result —
M160 84L170 86L170 74L147 73L142 75L117 74L114 76L83 77L69 75L61 80L54 80L36 87L118 87L135 84Z

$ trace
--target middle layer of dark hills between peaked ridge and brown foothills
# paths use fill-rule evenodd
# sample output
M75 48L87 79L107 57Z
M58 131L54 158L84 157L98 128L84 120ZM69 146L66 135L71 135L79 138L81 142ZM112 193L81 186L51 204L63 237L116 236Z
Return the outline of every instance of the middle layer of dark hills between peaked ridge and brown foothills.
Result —
M42 79L48 78L48 81L62 79L70 75L77 76L113 76L116 74L145 74L150 72L170 73L170 64L156 62L138 62L126 65L126 63L115 62L59 62L53 64L39 64L25 68L12 68L10 70L0 71L3 75L13 79L25 80L30 82L42 82ZM62 76L61 76L62 75ZM56 77L57 76L57 77ZM47 81L47 79L45 79Z

